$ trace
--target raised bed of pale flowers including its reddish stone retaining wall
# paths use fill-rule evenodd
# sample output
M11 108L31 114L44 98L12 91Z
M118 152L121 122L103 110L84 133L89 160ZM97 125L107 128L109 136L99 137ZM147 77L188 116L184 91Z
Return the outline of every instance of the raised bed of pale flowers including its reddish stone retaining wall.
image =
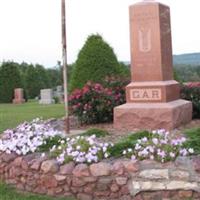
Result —
M83 200L156 194L198 199L200 157L186 157L194 150L185 142L165 130L135 133L116 144L90 133L65 137L37 119L2 135L0 179L21 190Z

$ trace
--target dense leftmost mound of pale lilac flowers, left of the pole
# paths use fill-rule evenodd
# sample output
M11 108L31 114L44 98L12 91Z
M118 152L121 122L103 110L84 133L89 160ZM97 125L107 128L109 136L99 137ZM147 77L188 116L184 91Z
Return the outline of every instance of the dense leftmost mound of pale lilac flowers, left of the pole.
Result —
M3 138L0 139L0 151L26 155L45 145L47 138L61 135L61 132L55 131L38 118L30 123L20 124L14 130L4 131Z

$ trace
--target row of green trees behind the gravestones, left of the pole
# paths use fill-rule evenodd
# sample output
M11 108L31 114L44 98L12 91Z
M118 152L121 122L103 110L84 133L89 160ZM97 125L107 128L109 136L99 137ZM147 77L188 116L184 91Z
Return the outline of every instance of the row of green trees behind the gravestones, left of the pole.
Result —
M62 84L61 67L44 68L39 64L6 61L0 65L0 103L10 103L14 89L23 88L26 99L33 99L44 88Z

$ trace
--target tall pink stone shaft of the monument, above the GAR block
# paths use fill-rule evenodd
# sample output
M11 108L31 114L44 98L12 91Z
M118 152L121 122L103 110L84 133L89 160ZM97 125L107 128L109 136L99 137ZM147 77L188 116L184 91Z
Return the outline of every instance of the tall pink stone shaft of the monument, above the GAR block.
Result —
M141 2L129 11L132 81L172 80L169 7Z

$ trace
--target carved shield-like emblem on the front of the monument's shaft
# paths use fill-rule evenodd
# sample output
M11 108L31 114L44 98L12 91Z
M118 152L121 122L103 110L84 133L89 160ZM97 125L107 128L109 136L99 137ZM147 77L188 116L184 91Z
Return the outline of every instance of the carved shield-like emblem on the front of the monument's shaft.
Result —
M142 27L138 32L139 50L144 53L151 51L151 29Z

